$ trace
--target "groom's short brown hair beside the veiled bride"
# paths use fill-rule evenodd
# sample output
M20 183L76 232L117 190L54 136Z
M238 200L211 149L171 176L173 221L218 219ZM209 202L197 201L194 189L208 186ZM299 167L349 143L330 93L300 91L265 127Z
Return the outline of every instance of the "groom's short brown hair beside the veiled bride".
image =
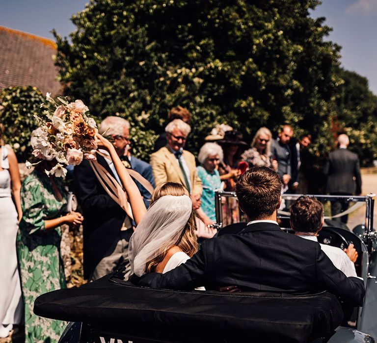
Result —
M267 167L251 168L237 180L236 194L240 207L249 218L269 217L279 204L280 177Z

